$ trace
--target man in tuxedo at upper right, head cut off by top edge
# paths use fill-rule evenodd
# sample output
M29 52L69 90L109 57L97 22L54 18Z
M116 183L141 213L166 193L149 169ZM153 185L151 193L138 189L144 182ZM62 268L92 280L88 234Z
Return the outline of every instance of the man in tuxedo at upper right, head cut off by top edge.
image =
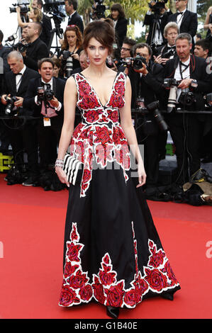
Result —
M176 22L179 27L179 33L189 33L194 46L194 36L198 26L197 14L186 9L188 0L176 0L175 2L177 13L170 15L168 22Z

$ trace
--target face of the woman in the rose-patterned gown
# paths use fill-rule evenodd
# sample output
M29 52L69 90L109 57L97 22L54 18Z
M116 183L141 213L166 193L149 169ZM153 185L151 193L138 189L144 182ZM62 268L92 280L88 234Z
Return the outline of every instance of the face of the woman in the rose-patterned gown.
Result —
M106 62L108 47L101 45L96 38L92 37L89 40L89 45L87 47L87 55L91 64L99 66Z

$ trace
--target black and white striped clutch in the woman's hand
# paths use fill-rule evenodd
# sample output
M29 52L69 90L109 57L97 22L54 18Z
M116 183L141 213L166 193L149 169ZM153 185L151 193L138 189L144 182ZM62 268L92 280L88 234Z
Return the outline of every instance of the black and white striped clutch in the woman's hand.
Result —
M83 164L68 153L64 157L63 170L67 174L67 180L70 184L75 185L81 182Z

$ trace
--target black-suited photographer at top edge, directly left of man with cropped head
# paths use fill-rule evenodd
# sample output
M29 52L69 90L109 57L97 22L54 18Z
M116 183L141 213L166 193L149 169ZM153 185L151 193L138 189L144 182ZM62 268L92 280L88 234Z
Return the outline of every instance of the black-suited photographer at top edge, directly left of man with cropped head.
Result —
M147 36L147 44L153 43L160 46L165 43L164 27L168 23L168 17L172 14L165 5L167 0L150 1L150 9L147 11L143 26L150 26Z

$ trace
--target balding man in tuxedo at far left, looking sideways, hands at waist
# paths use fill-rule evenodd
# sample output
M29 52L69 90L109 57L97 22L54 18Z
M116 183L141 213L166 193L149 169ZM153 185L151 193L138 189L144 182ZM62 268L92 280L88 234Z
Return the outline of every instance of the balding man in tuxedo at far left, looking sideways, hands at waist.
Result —
M12 51L8 55L8 63L11 72L5 74L1 103L5 106L8 104L6 96L10 98L16 96L14 107L17 110L14 113L21 115L31 115L28 108L23 107L23 101L26 96L30 79L38 77L38 72L29 69L23 64L23 57L20 52ZM18 116L17 116L18 117ZM13 149L13 158L19 171L23 171L23 151L26 149L28 155L28 171L29 176L35 176L38 172L38 145L36 140L35 121L27 120L26 124L19 128L13 129L15 120L7 120L9 126L9 137ZM11 179L9 185L16 184L16 181Z

